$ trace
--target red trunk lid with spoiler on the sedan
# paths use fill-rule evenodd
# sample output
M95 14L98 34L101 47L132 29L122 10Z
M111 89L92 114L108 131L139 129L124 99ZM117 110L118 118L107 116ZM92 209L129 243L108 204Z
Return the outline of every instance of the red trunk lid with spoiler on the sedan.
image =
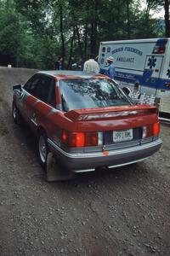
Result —
M76 109L65 117L77 123L77 131L124 130L158 121L157 108L150 105Z

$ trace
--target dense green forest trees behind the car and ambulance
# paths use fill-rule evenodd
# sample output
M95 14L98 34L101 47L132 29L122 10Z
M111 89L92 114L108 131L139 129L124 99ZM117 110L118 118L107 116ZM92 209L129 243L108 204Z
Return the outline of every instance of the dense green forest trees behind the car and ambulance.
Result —
M0 55L15 66L54 69L59 56L70 67L97 55L100 41L163 37L150 9L164 1L146 2L141 11L137 0L0 0Z

